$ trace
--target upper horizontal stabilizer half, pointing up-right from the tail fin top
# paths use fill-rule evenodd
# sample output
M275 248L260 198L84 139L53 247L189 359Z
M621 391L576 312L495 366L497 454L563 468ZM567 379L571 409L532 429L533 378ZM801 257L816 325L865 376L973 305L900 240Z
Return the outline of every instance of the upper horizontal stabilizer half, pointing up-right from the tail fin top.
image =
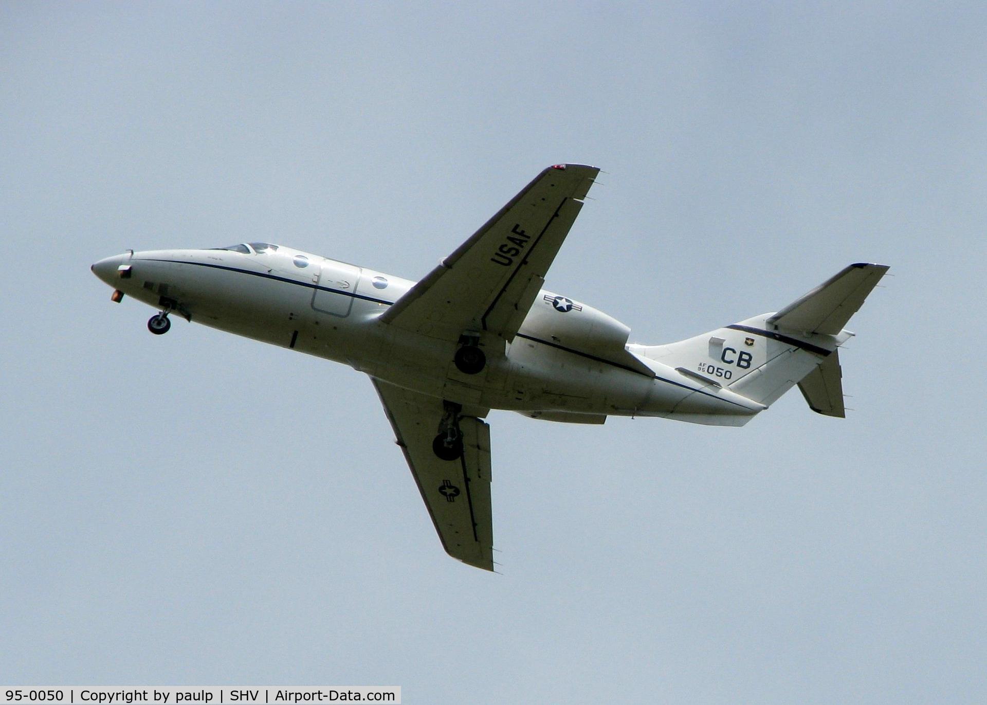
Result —
M851 265L790 303L768 323L790 331L838 335L888 269L884 265Z

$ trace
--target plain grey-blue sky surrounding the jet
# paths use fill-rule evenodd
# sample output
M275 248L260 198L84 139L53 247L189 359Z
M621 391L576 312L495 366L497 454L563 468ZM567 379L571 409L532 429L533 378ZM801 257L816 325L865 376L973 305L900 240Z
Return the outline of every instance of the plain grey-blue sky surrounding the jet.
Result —
M987 698L980 3L0 3L0 682L407 703ZM418 278L602 167L547 285L679 340L891 266L856 411L494 412L502 576L369 382L89 272L269 240Z

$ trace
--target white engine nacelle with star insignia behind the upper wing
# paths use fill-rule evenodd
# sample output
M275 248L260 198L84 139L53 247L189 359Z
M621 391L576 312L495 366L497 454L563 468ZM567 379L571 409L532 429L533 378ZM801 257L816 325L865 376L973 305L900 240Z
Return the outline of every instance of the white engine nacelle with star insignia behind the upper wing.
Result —
M519 333L604 359L626 357L631 329L592 306L540 291Z

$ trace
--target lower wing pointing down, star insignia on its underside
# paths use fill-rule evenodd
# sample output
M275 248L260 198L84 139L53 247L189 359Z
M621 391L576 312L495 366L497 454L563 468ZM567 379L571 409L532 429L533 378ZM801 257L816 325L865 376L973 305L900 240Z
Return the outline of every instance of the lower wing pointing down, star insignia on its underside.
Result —
M442 547L463 563L493 571L490 427L480 419L461 417L463 455L442 460L432 452L442 419L441 400L372 381Z

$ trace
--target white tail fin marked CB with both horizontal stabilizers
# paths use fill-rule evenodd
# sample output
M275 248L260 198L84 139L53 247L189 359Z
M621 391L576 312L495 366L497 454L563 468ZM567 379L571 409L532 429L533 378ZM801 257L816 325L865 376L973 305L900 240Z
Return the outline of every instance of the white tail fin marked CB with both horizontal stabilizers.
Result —
M887 270L884 265L850 265L777 313L679 343L628 350L765 407L797 384L812 411L842 418L839 348L854 335L844 326ZM674 412L669 418L692 421ZM750 418L707 417L700 423L737 426Z

